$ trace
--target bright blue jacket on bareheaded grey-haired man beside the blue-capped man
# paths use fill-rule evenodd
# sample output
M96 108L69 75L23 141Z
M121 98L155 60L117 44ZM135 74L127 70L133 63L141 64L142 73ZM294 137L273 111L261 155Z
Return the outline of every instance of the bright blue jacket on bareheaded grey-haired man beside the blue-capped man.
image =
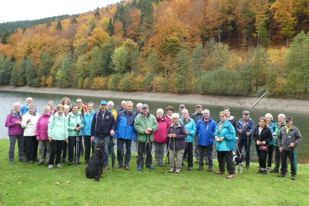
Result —
M137 133L134 129L135 114L131 111L130 114L126 110L120 111L116 118L116 131L114 137L137 140Z

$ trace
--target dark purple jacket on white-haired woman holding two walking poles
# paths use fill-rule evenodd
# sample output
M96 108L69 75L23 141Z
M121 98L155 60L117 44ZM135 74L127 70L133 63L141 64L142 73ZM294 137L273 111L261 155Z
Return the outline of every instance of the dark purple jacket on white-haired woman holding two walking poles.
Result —
M186 132L186 128L184 127L184 124L179 122L178 126L174 128L174 123L172 123L168 127L167 137L169 134L172 134L172 133L176 134L176 138L170 138L171 141L169 143L170 144L169 149L174 149L174 141L175 141L175 149L185 149L186 148L185 138L187 137L187 132Z

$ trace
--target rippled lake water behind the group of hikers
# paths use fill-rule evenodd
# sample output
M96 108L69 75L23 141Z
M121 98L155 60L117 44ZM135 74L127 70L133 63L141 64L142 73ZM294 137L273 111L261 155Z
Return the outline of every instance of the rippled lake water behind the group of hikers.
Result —
M38 88L40 89L40 88ZM89 96L83 96L83 94L72 94L72 95L57 95L57 94L41 94L41 93L26 93L26 92L7 92L7 91L0 91L0 101L2 102L2 111L4 112L4 115L0 116L0 132L1 136L0 138L6 138L8 139L8 134L7 134L7 128L5 127L5 120L7 114L10 112L10 110L13 108L13 103L19 102L22 105L25 104L25 100L27 97L32 97L33 98L33 103L36 105L38 112L40 115L43 113L44 106L47 105L47 102L49 100L53 100L55 102L55 107L57 107L57 104L60 104L61 99L63 97L69 97L71 99L71 106L72 103L75 103L75 100L77 98L82 98L83 103L87 105L88 102L94 102L95 103L95 111L99 110L99 102L101 100L106 100L106 101L113 101L115 103L114 108L116 111L118 111L121 106L120 103L122 100L130 100L129 97L125 97L122 99L119 98L104 98L104 97L89 97ZM157 98L155 98L157 99ZM149 105L149 112L153 115L156 115L156 111L158 108L162 108L163 111L165 111L165 108L167 106L172 106L174 107L174 112L179 111L179 104L185 104L186 109L188 109L189 113L192 114L195 112L195 106L193 104L187 104L185 99L179 99L179 103L168 103L165 102L166 99L164 99L164 102L160 102L160 99L157 99L157 101L141 101L141 103L147 103ZM133 111L136 111L135 105L139 103L139 101L134 100L134 107ZM215 105L210 105L207 102L200 102L198 104L201 104L203 106L203 109L207 108L210 110L210 116L213 120L217 121L219 119L219 112L223 110L223 107L221 106L215 106ZM280 102L278 102L280 104ZM271 113L274 117L274 121L277 122L277 116L280 113L285 114L286 116L292 116L293 117L293 125L296 126L299 131L301 132L303 136L303 140L300 143L300 145L297 146L297 159L298 163L308 163L309 161L309 139L307 138L309 136L309 128L308 128L308 122L309 122L309 116L304 113L297 113L297 112L290 112L290 111L277 111L277 110L263 110L263 109L251 109L251 108L242 108L242 107L231 107L228 104L228 101L226 102L226 107L231 108L231 115L235 116L236 120L239 120L239 118L242 117L242 111L243 110L248 110L250 111L251 115L250 117L255 121L255 125L257 124L257 120L259 117L264 116L266 113ZM166 113L165 113L166 114ZM165 115L164 114L164 115ZM116 149L117 144L115 145ZM132 144L132 151L136 151L135 144ZM152 152L154 152L154 147L152 149ZM194 152L194 149L193 149ZM244 149L243 149L244 152ZM214 158L217 157L217 153L215 150L214 146ZM251 145L251 158L252 160L256 161L257 160L257 154L256 154L256 148L254 142L252 142ZM216 161L216 160L215 160Z

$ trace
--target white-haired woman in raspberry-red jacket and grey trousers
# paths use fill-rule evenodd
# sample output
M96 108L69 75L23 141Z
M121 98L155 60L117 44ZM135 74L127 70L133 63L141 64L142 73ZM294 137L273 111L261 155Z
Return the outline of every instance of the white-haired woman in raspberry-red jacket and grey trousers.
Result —
M168 121L163 116L163 109L157 110L155 119L158 122L158 130L154 132L155 166L163 167L164 147L167 141Z

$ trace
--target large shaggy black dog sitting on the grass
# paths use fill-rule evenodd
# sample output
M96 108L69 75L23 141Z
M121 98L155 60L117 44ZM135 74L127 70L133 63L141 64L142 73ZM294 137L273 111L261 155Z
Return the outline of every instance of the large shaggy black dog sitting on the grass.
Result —
M96 182L99 182L100 178L103 176L104 145L106 145L106 142L106 139L98 142L96 149L85 169L87 178L93 179Z

